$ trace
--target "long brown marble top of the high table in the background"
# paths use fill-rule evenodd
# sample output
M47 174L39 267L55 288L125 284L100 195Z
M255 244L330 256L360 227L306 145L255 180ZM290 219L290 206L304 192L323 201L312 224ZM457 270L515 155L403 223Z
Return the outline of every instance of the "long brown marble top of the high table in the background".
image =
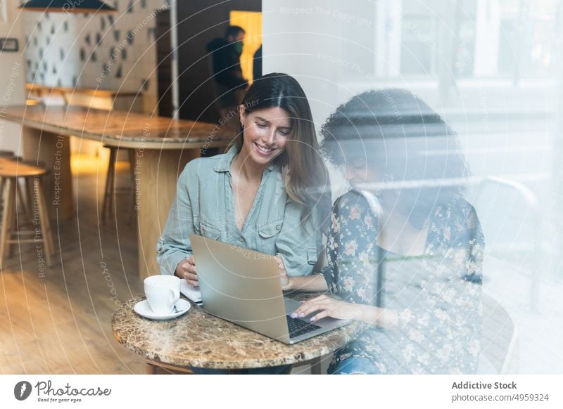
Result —
M34 129L123 148L224 146L236 136L235 129L220 124L78 106L10 105L4 117Z

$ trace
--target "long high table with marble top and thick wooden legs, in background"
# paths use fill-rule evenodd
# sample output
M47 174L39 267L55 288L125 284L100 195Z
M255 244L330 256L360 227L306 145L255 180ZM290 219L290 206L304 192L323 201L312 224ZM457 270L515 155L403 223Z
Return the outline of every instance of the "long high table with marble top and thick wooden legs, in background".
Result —
M4 118L22 125L25 159L44 162L49 169L46 202L57 221L75 213L69 136L135 150L141 279L160 271L156 242L182 169L202 150L224 148L234 138L232 131L216 124L74 106L12 105Z

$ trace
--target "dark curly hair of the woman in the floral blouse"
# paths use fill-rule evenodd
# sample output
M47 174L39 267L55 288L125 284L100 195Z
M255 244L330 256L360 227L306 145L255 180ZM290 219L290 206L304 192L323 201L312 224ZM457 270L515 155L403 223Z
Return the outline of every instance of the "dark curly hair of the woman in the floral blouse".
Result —
M464 193L469 171L457 135L410 91L360 93L336 109L321 134L321 150L336 167L361 160L380 179L395 182L396 204L417 228Z

